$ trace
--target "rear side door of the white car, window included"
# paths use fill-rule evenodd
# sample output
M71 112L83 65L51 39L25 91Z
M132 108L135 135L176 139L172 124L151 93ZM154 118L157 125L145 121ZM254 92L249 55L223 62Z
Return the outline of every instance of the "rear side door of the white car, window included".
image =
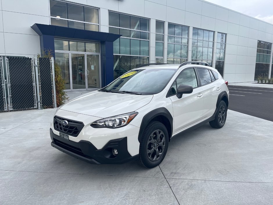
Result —
M219 86L217 81L215 81L210 69L198 67L196 69L204 96L203 119L206 119L211 117L215 112L221 86Z

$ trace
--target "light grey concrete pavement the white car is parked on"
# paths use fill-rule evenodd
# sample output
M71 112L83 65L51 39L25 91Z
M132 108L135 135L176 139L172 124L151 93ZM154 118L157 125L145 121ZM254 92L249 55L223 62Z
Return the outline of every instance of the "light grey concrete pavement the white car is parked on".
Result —
M91 165L51 147L54 109L0 113L0 204L273 204L273 122L228 111L173 138L153 169Z

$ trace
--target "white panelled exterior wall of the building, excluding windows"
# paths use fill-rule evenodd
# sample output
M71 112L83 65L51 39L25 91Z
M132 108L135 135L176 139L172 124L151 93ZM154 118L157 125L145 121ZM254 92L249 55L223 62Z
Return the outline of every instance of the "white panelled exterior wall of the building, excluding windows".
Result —
M0 55L32 56L40 53L40 40L30 28L49 24L49 0L0 0ZM108 32L108 10L150 18L150 63L155 62L155 20L165 22L164 61L167 60L168 22L189 26L188 60L192 28L227 33L224 79L254 80L257 40L273 43L273 25L202 0L71 0L100 8L100 31ZM213 65L215 65L215 47ZM272 57L272 55L271 55Z

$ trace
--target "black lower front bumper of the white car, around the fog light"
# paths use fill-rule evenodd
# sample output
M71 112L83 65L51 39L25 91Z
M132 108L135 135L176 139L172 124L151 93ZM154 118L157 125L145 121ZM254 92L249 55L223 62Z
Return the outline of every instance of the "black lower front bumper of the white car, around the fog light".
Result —
M127 137L110 140L102 149L97 149L91 142L65 140L50 129L51 146L91 164L122 164L138 158L131 156L127 149ZM117 156L112 152L118 150Z

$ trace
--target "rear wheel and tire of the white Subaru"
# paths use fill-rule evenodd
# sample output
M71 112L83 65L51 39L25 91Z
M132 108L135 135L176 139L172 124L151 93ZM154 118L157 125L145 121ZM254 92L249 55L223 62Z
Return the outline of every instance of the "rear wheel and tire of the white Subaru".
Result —
M215 113L215 119L210 121L209 124L213 128L222 128L226 122L227 119L227 105L224 101L220 101L216 113Z

